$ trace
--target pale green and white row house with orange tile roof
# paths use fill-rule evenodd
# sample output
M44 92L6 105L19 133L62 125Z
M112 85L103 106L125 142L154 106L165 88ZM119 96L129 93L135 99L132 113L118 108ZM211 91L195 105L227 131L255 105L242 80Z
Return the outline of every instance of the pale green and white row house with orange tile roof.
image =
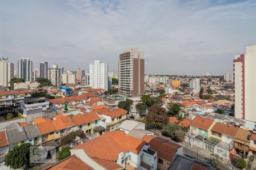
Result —
M204 147L204 141L210 137L214 120L196 116L190 126L190 130L185 134L185 142L188 142L191 146L196 145L200 148Z

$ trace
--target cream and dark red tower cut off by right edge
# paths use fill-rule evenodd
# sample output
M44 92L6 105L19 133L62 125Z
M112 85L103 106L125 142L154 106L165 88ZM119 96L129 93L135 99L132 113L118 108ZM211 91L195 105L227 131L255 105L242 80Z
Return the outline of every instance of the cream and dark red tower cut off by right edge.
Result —
M256 45L234 57L235 117L256 121Z

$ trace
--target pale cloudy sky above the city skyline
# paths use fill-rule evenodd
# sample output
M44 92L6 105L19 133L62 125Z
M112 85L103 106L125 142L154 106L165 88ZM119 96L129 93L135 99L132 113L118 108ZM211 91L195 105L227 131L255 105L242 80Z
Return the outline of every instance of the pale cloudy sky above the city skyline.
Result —
M256 1L0 1L0 57L29 57L65 70L137 47L148 74L223 74L256 45Z

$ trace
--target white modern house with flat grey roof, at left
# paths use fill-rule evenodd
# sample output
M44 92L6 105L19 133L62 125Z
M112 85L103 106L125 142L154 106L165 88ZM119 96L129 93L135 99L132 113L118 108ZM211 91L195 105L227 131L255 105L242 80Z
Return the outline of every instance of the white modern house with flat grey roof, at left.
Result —
M49 108L49 100L45 97L37 97L20 101L20 109L25 117L41 113Z

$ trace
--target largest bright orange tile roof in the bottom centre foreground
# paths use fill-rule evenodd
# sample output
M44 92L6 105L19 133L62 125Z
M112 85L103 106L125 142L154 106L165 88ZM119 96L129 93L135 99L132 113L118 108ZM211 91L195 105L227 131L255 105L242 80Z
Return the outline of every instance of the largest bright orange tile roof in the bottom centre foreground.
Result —
M83 149L92 158L116 161L120 152L139 154L146 142L131 137L123 131L106 132L74 149Z

